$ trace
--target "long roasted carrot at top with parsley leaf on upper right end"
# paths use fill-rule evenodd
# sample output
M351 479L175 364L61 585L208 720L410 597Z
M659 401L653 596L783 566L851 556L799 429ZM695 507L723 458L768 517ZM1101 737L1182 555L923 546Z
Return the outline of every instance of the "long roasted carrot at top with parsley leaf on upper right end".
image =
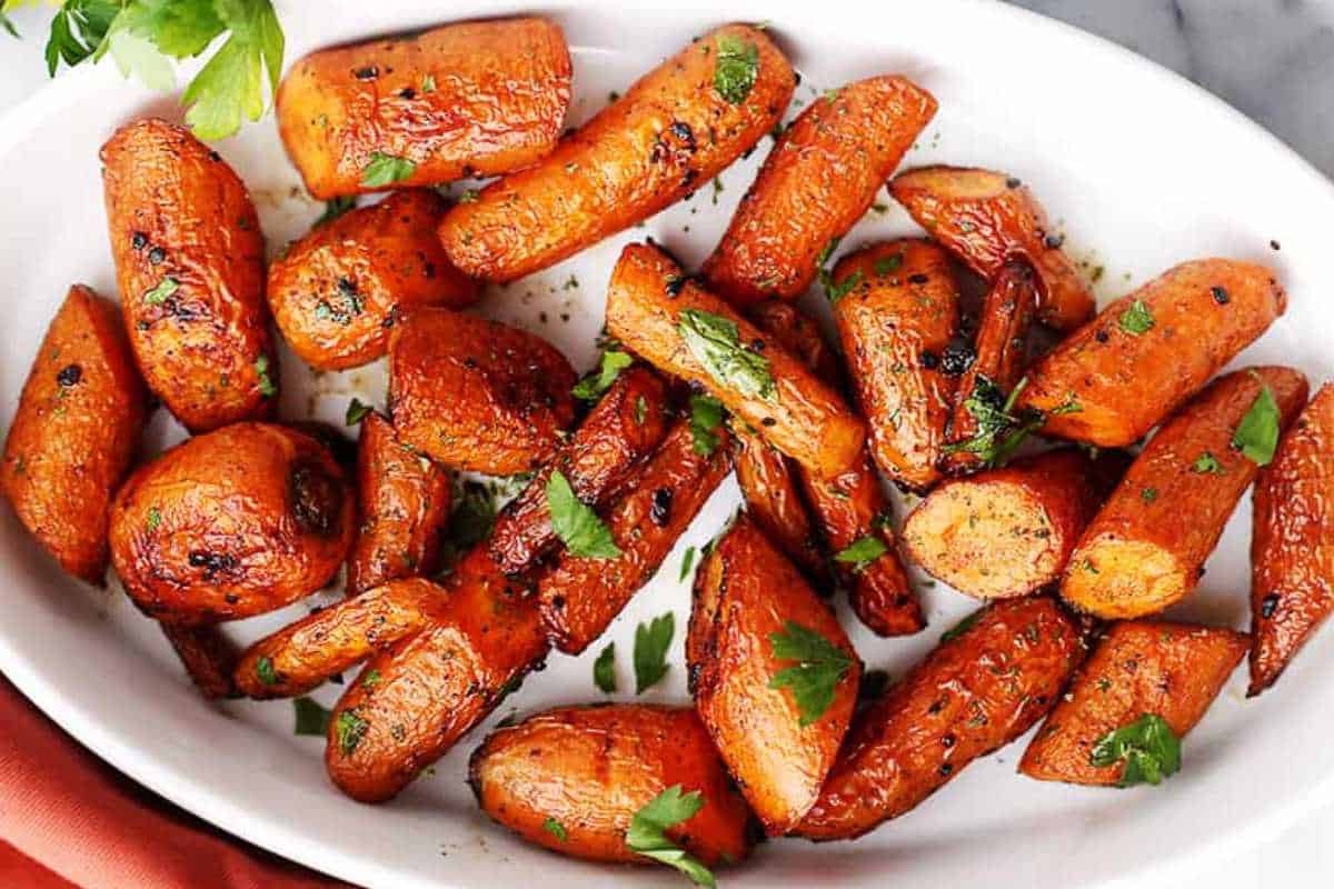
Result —
M440 223L454 264L512 281L704 185L783 116L795 76L759 29L726 25L666 60L566 137Z

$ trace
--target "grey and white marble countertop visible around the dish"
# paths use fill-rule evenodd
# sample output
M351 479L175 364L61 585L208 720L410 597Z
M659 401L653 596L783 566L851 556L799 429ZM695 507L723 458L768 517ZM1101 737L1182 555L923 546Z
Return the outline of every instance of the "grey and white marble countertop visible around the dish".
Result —
M1334 0L1013 3L1114 40L1190 77L1334 177ZM24 32L44 35L49 11L11 15ZM8 37L0 35L0 40ZM5 52L4 72L0 112L45 83L39 52ZM1326 634L1322 642L1334 640ZM1255 849L1217 862L1190 882L1211 889L1323 888L1334 873L1330 837L1334 806Z

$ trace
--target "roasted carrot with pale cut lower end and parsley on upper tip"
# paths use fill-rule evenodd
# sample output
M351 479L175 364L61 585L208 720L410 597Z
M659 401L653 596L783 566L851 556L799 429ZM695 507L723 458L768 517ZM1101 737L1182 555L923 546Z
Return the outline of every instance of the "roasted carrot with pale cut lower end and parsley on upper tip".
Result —
M1247 416L1271 433L1306 403L1306 377L1251 368L1215 380L1131 464L1070 557L1061 596L1098 617L1153 614L1187 596L1259 469L1239 448Z

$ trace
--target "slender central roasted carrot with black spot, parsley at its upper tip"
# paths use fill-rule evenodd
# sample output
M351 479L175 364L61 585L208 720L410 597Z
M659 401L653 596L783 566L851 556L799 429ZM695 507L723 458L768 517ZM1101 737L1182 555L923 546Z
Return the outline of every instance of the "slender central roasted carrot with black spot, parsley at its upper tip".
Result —
M730 470L727 433L700 453L688 420L679 421L640 472L634 490L606 510L607 529L620 550L600 558L566 552L538 582L542 622L551 644L578 654L658 572L676 538Z

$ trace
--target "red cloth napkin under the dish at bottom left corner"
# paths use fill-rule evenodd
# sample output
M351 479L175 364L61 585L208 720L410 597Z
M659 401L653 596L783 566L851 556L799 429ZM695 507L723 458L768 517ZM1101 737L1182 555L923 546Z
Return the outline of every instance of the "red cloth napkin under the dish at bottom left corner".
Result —
M0 886L347 886L235 840L124 777L0 677Z

